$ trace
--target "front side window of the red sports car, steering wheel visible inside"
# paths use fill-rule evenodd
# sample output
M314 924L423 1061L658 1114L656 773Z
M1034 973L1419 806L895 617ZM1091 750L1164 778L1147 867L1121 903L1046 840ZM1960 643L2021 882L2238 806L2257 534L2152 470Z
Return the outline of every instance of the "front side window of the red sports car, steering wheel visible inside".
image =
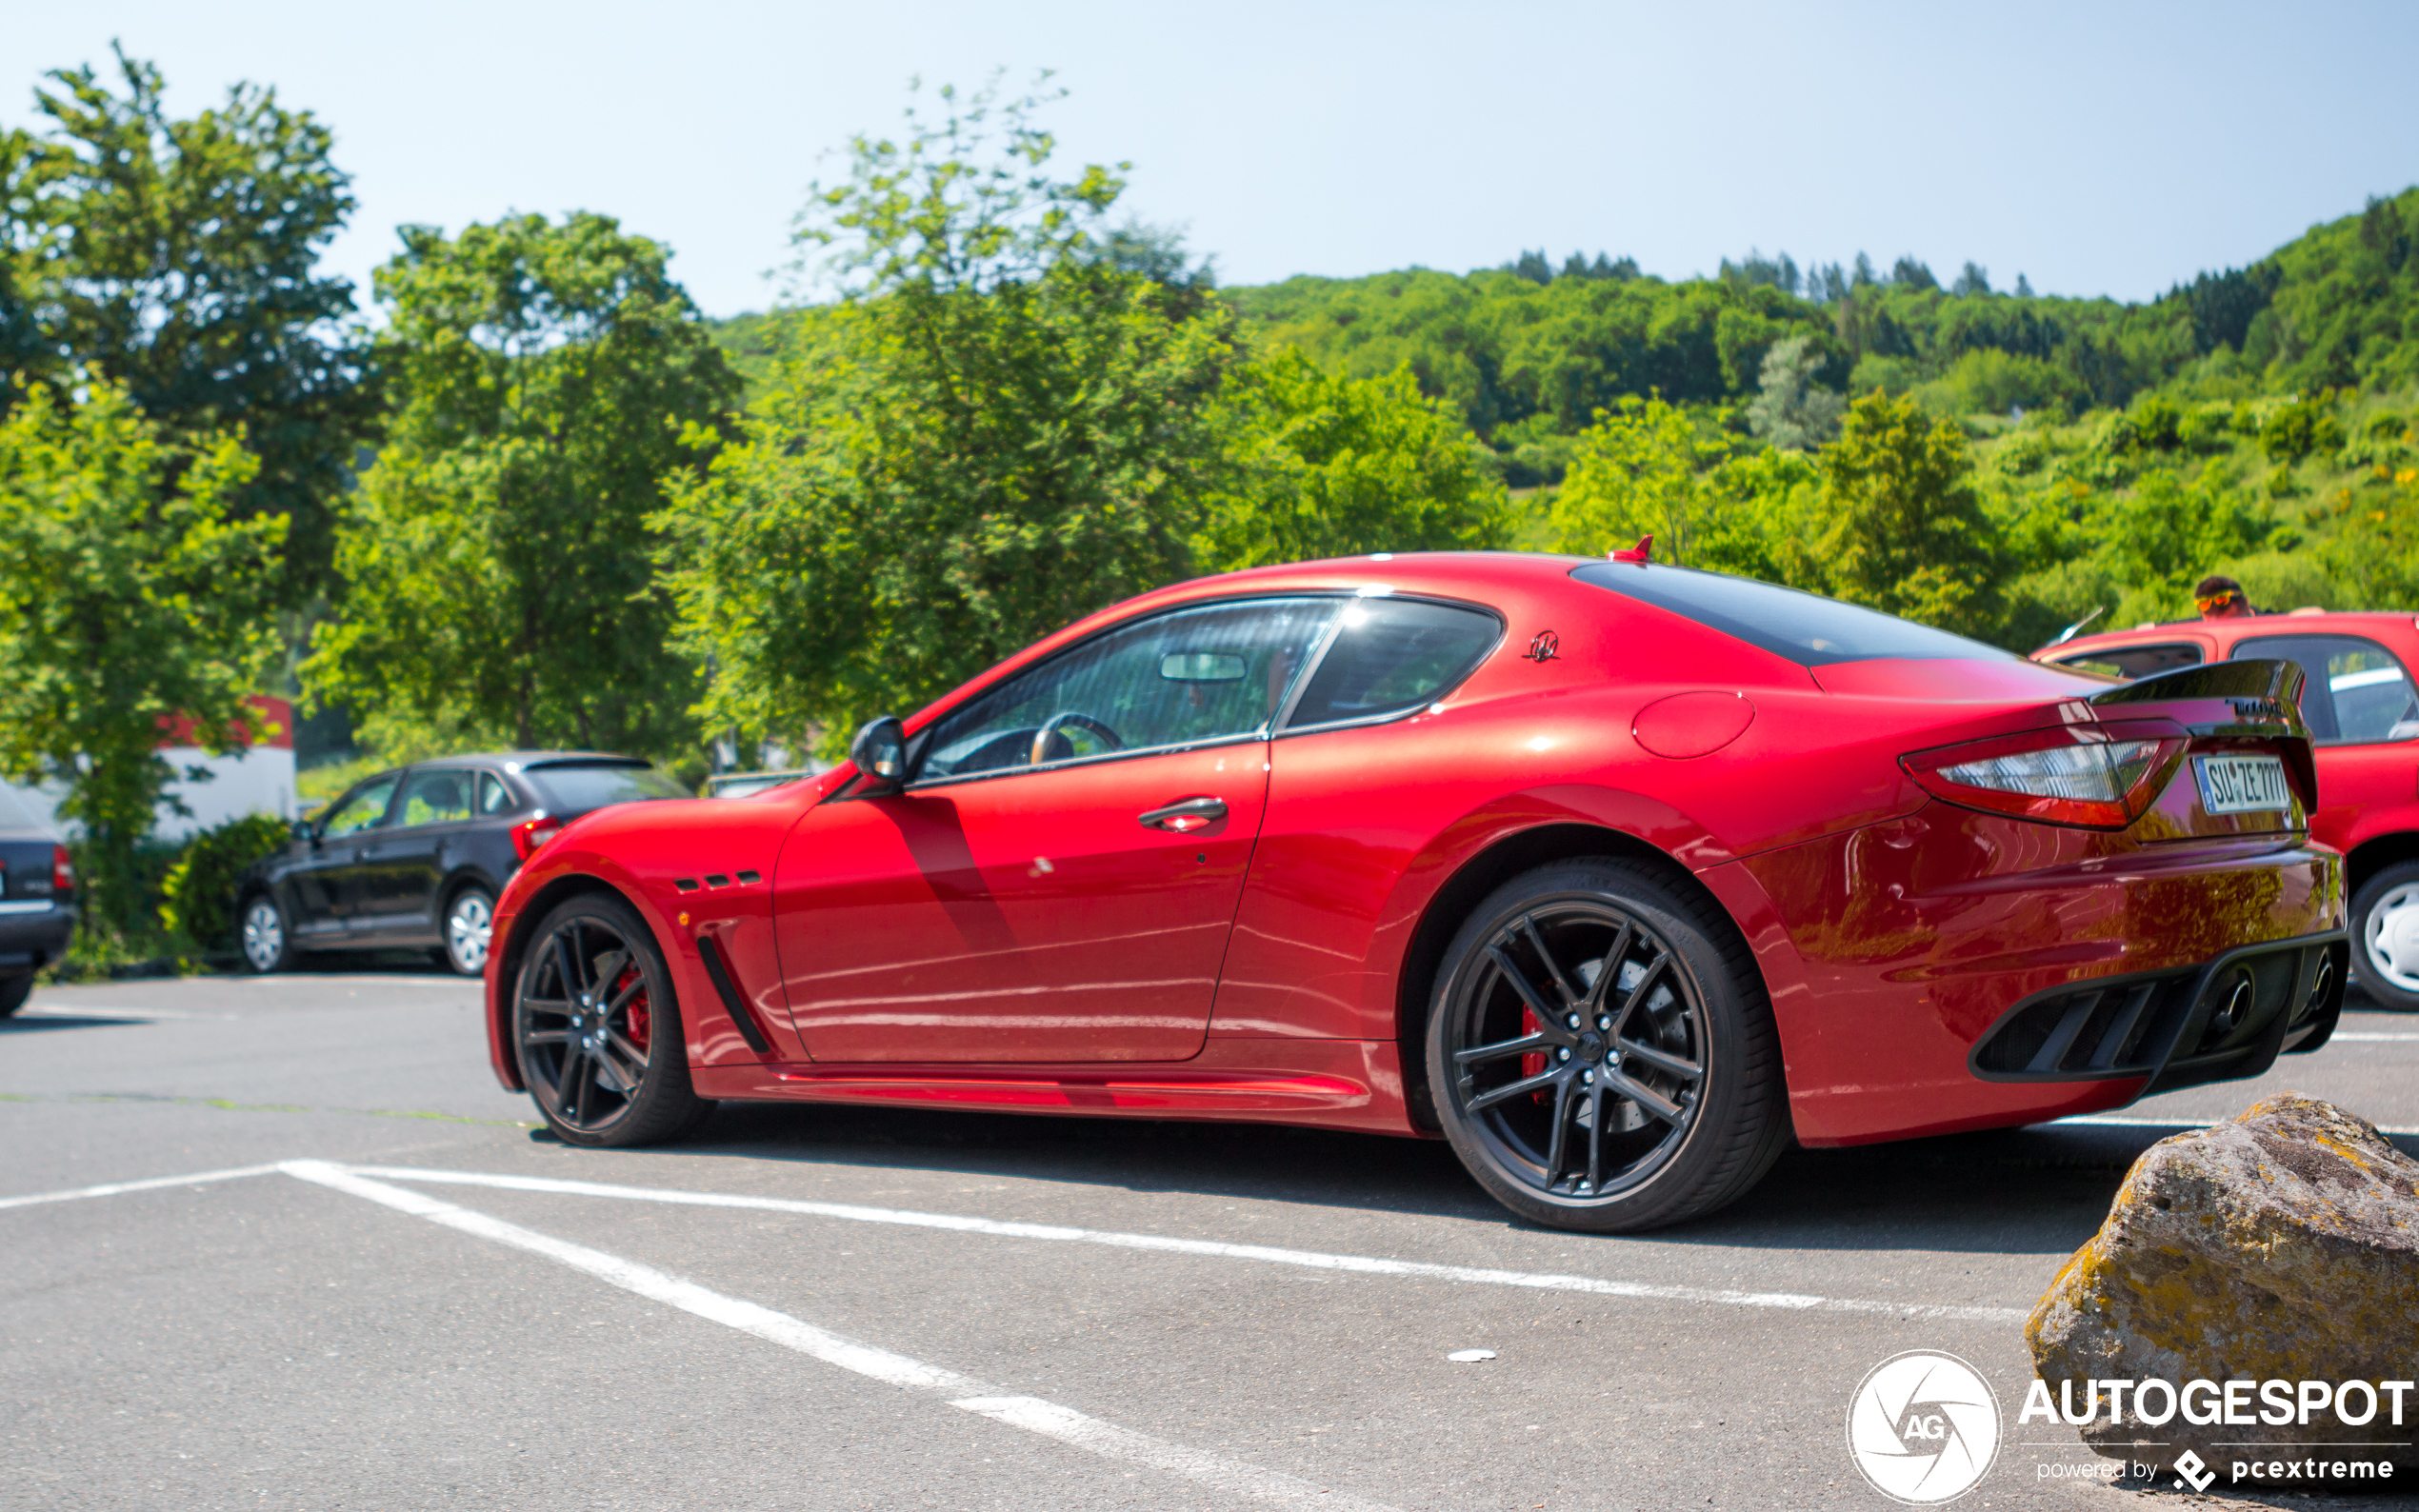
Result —
M1251 735L1340 600L1154 614L1018 673L939 723L917 781Z

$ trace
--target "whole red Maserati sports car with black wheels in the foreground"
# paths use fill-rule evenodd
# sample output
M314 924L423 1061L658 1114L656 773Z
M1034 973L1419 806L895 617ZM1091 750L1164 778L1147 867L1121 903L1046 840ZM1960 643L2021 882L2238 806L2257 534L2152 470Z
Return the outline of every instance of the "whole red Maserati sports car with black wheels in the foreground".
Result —
M581 818L496 902L496 1074L568 1144L714 1098L1444 1135L1638 1229L1790 1137L2332 1033L2296 663L2112 685L1643 556L1180 583L822 777Z

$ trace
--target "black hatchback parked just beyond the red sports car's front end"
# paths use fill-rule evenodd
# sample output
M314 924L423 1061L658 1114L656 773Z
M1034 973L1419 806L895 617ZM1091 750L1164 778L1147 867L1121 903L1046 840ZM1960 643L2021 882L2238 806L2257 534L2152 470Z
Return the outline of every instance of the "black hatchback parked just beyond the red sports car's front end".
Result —
M397 767L356 781L281 854L237 883L244 963L283 970L305 951L428 946L486 970L496 893L588 810L692 798L639 757L508 750Z

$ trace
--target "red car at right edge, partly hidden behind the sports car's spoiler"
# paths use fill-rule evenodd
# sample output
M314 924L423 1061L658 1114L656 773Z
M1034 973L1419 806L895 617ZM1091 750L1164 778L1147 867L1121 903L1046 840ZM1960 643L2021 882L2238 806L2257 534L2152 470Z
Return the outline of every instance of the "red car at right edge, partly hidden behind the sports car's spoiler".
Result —
M2284 658L2303 670L2300 714L2317 748L2310 837L2344 852L2351 975L2385 1009L2419 1011L2419 619L2247 614L2143 624L2032 653L2107 677L2213 660Z

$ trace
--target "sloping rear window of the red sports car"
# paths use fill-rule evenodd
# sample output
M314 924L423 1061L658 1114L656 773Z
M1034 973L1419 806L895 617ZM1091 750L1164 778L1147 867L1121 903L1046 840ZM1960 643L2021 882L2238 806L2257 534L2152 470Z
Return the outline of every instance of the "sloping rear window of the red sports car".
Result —
M2017 660L2013 651L1984 646L1945 629L1843 605L1836 598L1797 593L1730 573L1701 573L1686 566L1589 561L1570 576L1597 588L1623 593L1657 610L1672 610L1725 636L1761 646L1800 665L1819 668L1836 660Z

